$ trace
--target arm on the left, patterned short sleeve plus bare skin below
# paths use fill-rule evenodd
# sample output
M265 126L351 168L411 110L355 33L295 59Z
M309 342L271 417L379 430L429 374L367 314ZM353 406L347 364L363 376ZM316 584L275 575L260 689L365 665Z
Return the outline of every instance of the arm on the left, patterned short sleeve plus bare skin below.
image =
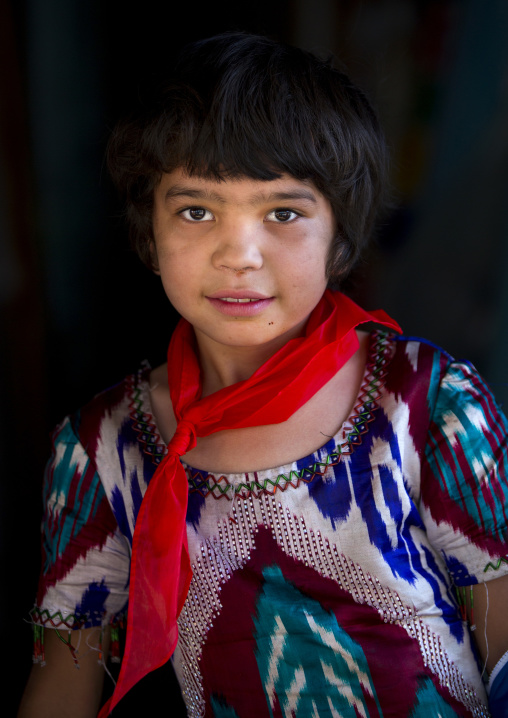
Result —
M102 695L104 666L99 626L123 613L127 600L129 549L107 500L95 465L69 420L53 436L46 468L43 570L35 624L45 626L46 665L35 665L19 718L95 718ZM89 628L80 628L83 625ZM57 629L55 626L61 626ZM68 640L77 650L76 669ZM92 648L90 648L92 647ZM109 629L103 649L109 650Z

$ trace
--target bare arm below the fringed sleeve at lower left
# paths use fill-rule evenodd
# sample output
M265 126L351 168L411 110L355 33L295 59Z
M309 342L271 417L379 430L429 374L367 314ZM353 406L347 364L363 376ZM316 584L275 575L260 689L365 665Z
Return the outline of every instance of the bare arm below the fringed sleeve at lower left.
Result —
M45 630L46 665L34 665L25 688L18 718L95 718L99 710L104 682L104 666L96 650L88 645L98 643L97 628L83 629L80 635L79 669L69 648L54 629ZM104 632L103 649L107 655L108 631ZM72 636L76 647L78 632ZM64 636L67 637L66 635Z

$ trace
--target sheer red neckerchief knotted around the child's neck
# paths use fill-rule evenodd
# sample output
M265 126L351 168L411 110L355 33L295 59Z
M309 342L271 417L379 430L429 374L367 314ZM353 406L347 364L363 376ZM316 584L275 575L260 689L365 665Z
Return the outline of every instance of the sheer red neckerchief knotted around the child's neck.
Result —
M176 621L192 577L185 523L188 485L180 457L194 448L197 436L289 419L353 356L359 346L355 329L365 322L401 331L382 310L366 312L344 294L327 290L304 336L288 341L250 379L201 399L194 331L180 321L168 349L177 429L136 519L125 653L115 692L99 718L175 650Z

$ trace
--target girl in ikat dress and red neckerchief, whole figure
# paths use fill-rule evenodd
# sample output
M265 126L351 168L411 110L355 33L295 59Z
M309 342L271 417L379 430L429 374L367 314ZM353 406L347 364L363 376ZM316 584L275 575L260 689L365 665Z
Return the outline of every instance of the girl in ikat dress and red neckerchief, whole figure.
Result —
M219 36L109 162L183 319L167 364L55 433L20 716L95 715L125 615L101 716L170 657L189 716L487 716L489 674L506 715L506 420L469 364L332 291L386 185L365 97Z

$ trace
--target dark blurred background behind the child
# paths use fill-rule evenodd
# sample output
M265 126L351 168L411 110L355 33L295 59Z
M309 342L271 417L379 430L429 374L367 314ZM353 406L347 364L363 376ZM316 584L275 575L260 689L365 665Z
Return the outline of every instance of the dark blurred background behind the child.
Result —
M508 402L508 3L0 0L0 551L5 715L30 668L49 432L174 314L104 168L115 120L188 41L248 30L335 53L378 107L395 205L353 285L471 359Z

